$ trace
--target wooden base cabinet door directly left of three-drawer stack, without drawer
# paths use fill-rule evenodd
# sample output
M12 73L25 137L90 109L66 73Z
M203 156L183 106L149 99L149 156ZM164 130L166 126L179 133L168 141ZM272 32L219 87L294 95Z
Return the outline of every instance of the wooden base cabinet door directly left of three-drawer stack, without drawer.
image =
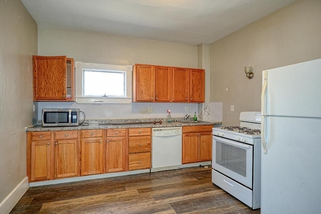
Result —
M107 130L108 131L108 130ZM106 138L106 172L126 170L126 138Z

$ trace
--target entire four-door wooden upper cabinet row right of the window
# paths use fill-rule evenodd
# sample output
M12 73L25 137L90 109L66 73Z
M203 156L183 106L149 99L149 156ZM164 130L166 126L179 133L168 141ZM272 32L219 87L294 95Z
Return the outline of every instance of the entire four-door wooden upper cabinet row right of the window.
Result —
M136 64L133 102L205 101L205 70Z

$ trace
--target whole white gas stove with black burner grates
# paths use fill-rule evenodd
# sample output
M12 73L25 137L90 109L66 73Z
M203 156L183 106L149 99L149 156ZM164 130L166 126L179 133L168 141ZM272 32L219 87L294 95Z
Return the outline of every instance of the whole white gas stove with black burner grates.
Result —
M260 112L241 112L240 126L213 128L212 182L252 209L261 200L260 129Z

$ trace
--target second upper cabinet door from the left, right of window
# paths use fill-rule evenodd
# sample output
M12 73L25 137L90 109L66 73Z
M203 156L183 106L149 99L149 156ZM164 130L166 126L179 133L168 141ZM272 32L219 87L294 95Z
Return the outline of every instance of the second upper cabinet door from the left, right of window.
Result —
M172 101L172 71L171 67L155 66L155 101Z

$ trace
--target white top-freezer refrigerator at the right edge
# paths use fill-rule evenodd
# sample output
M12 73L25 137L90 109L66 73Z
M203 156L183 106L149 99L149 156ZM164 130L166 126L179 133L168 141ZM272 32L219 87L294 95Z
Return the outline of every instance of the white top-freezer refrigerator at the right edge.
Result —
M321 59L262 79L261 213L321 213Z

